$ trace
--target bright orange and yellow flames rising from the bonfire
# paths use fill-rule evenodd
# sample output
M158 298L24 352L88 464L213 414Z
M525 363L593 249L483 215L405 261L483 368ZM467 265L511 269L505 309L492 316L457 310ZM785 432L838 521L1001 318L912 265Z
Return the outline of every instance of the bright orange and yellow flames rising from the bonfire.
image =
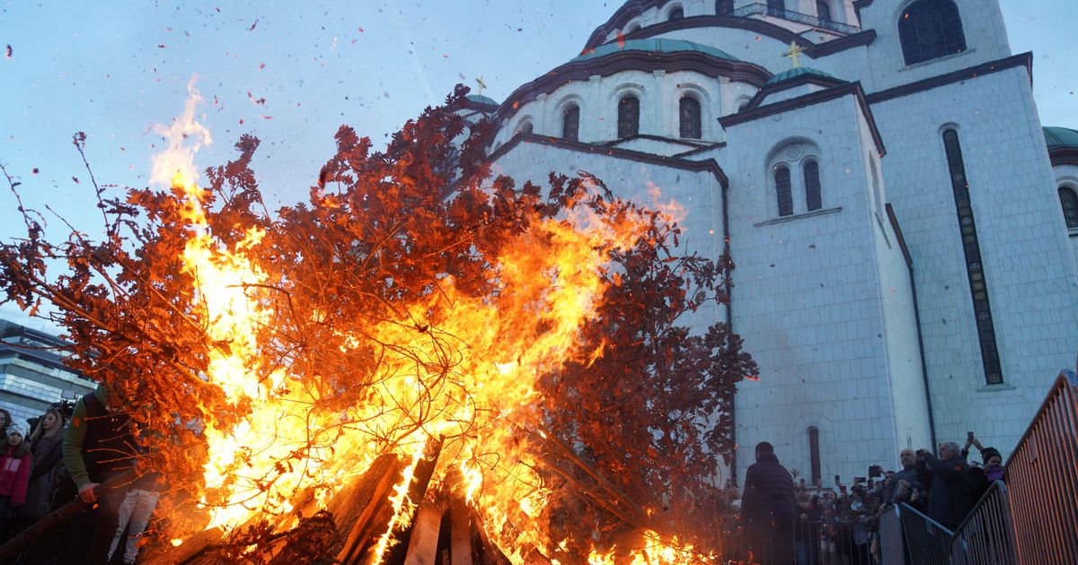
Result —
M207 527L230 529L255 517L287 514L303 489L324 500L391 451L410 463L392 491L393 520L377 541L375 555L383 555L395 542L395 527L418 504L409 499L407 485L427 440L441 436L446 439L434 479L450 469L459 474L466 499L481 509L486 531L512 562L526 563L533 548L555 547L539 527L551 493L522 430L543 434L533 422L539 421L536 381L544 370L602 355L602 347L578 351L579 328L605 291L600 267L613 250L635 243L644 221L612 225L581 210L537 220L496 257L495 297L469 296L445 278L439 292L399 319L372 323L362 336L342 336L345 349L383 344L378 375L369 384L369 401L346 413L319 410L313 392L319 387L303 385L317 375L263 366L258 336L273 311L261 293L271 281L251 250L264 234L250 229L233 245L211 234L194 167L195 153L211 139L196 121L202 96L194 80L188 89L182 116L157 129L168 150L154 159L153 179L183 195L191 223L182 259L212 343L205 379L243 413L226 424L206 410ZM664 542L648 533L644 540L633 563L687 562L678 551L688 550L676 539ZM611 559L593 552L589 562Z

